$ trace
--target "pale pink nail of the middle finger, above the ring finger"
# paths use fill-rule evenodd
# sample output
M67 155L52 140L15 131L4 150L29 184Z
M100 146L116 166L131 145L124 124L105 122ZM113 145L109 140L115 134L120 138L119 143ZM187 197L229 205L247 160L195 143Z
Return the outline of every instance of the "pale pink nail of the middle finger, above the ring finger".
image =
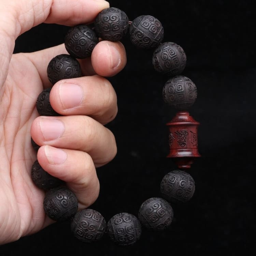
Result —
M83 101L83 89L80 85L62 82L59 86L59 97L64 109L72 109Z

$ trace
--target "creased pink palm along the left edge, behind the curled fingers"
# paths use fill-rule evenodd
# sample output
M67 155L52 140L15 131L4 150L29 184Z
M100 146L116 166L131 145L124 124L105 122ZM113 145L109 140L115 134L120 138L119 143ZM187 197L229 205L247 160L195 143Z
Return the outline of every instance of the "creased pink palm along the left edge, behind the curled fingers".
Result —
M25 54L13 55L1 86L0 238L7 240L34 233L50 223L43 210L44 191L31 180L37 155L31 145L30 127L38 116L35 102L43 90L39 73ZM8 216L8 219L1 216Z

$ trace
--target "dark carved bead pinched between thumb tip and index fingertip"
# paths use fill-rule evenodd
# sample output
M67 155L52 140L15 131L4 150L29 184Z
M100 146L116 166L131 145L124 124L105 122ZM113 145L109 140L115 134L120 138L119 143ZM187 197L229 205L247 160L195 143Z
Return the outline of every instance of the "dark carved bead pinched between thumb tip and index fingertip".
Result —
M95 31L98 37L108 41L122 40L129 30L129 18L118 8L102 10L95 18Z

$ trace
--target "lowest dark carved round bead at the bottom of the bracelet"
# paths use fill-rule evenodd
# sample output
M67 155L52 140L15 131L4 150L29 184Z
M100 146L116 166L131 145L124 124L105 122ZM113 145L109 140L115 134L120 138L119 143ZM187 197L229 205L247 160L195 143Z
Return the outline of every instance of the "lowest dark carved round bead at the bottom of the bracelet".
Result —
M141 224L130 213L118 213L108 221L106 233L118 245L133 245L141 237Z

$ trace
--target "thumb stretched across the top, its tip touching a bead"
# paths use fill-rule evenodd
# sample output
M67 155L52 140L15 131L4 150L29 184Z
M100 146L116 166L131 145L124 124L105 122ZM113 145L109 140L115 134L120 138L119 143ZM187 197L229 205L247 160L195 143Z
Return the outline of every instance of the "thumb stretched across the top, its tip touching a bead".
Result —
M104 0L1 0L0 1L0 96L8 74L17 37L41 23L72 26L93 22L108 8Z

